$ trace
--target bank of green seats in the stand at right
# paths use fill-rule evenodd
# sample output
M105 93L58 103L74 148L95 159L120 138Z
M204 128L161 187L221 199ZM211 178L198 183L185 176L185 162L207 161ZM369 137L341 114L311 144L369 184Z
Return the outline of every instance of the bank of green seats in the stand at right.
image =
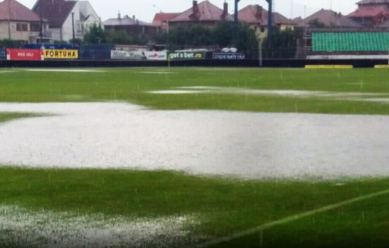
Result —
M312 52L383 52L389 32L312 33Z

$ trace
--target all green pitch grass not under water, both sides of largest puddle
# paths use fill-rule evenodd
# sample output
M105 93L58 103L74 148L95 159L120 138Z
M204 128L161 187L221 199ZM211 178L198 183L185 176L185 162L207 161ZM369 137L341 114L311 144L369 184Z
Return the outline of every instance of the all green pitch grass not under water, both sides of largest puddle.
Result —
M138 73L161 69L173 73ZM223 86L389 96L385 69L100 70L105 72L2 73L0 102L125 101L161 110L389 114L387 104L331 98L147 92L182 86ZM22 117L28 114L0 113L0 122ZM336 185L338 182L345 184ZM198 214L201 224L193 231L217 237L388 188L389 178L316 182L238 180L169 171L0 167L0 204L130 218ZM387 199L387 196L376 197L270 228L262 238L257 233L215 247L387 247Z

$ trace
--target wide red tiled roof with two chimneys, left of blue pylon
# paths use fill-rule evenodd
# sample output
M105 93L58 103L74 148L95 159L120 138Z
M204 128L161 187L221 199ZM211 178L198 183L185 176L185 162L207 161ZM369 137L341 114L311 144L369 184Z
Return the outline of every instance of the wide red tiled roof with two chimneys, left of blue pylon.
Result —
M171 22L188 22L188 21L232 21L233 17L227 13L223 15L223 10L211 4L208 1L204 1L197 5L197 11L194 8L190 8L175 18L171 19Z

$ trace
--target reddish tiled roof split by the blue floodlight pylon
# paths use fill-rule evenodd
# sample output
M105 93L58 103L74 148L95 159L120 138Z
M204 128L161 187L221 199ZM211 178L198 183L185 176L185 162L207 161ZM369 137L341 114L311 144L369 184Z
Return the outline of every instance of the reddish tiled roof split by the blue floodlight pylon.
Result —
M268 11L258 5L246 6L238 12L238 19L247 23L267 25L267 17ZM274 24L293 24L293 22L277 12L273 13L273 20Z

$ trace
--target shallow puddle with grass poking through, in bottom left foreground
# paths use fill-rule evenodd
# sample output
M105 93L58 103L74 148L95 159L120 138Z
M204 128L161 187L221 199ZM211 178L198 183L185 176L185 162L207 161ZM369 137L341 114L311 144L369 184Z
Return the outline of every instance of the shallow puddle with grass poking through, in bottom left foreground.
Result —
M197 219L172 216L132 220L0 205L0 244L44 248L190 247L209 238L189 231L199 224Z

